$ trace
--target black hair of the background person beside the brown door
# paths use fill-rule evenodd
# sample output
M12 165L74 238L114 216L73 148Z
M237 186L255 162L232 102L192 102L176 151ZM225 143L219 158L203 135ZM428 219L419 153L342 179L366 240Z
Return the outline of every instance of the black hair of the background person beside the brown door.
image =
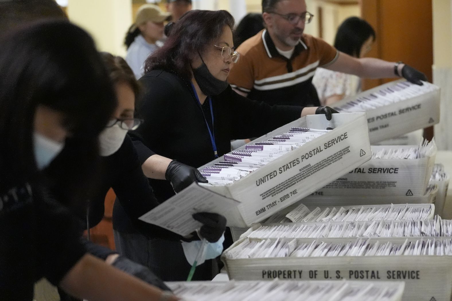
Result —
M361 47L370 37L375 41L376 35L372 26L363 19L350 17L339 25L334 47L349 56L359 57Z

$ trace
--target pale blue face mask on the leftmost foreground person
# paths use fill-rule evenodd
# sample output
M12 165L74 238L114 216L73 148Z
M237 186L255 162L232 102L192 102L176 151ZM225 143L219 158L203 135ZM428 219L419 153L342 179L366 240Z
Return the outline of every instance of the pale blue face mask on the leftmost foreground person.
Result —
M64 142L56 142L38 132L33 133L34 157L39 170L46 168L63 148Z

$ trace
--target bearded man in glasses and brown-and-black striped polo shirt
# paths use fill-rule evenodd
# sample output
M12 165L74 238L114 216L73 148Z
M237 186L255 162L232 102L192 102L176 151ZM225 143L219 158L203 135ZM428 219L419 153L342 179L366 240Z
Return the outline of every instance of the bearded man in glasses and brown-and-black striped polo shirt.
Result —
M354 58L320 38L304 34L313 15L305 0L262 0L265 29L237 49L240 59L228 76L238 93L269 104L320 106L312 85L315 69L363 78L403 76L422 85L425 75L403 64L376 58Z

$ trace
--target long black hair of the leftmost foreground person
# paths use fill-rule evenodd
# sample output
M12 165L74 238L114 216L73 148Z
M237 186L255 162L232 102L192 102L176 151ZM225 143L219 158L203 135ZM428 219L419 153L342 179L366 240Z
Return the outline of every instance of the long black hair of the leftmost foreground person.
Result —
M0 191L38 175L38 105L61 112L72 136L46 172L59 199L80 200L94 174L98 135L117 106L93 39L67 21L30 24L0 41Z

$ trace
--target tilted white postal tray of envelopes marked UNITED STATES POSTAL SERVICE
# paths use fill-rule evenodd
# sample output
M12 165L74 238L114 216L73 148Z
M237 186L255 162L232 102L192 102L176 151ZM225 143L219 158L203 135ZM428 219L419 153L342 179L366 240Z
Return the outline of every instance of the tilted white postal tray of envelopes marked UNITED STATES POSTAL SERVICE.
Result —
M200 167L209 180L200 185L240 201L224 216L249 227L370 157L365 113L308 115Z

